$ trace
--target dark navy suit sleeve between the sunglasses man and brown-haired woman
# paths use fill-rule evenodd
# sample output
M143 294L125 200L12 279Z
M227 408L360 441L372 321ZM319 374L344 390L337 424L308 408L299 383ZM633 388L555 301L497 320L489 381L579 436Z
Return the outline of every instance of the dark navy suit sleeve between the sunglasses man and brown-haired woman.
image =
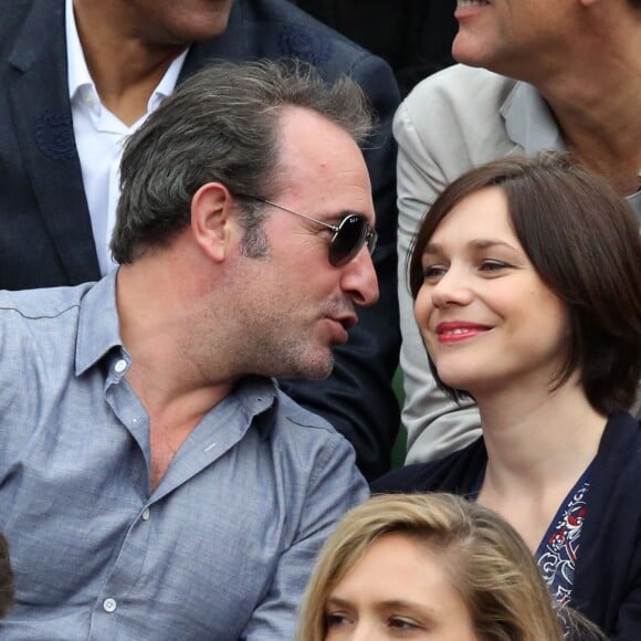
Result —
M347 345L335 350L334 372L320 381L285 381L283 389L308 410L320 414L351 442L366 479L390 466L400 423L391 379L400 346L397 298L396 144L391 120L399 95L389 66L362 53L350 75L365 90L379 118L379 130L364 150L376 208L378 245L374 263L380 297L358 308L359 323Z

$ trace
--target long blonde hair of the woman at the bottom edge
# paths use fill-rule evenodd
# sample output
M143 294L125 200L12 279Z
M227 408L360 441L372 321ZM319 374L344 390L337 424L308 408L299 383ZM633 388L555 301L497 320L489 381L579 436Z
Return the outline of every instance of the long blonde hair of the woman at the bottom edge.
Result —
M374 542L407 534L438 551L483 641L561 641L538 567L519 535L490 509L451 494L388 494L351 509L320 550L297 641L325 639L325 605Z

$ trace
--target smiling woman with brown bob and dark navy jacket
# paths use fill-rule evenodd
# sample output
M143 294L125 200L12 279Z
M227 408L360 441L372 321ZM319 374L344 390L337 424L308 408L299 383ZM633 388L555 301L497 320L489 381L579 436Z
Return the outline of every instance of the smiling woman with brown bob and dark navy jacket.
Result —
M409 265L437 382L483 435L375 492L454 492L523 537L560 606L641 639L641 238L558 154L477 167L435 200ZM607 533L607 535L605 535ZM545 638L545 637L542 637Z

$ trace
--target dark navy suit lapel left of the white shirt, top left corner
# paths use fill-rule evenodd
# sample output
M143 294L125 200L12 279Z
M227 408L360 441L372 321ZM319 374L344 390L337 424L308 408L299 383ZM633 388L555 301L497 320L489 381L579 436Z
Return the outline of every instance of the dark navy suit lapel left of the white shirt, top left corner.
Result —
M66 80L64 2L36 0L9 57L13 126L70 283L99 277Z

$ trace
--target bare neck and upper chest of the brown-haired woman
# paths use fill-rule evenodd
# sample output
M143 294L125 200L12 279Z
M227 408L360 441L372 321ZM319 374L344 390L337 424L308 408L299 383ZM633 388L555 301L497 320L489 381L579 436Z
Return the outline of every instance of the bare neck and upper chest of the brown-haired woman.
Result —
M581 389L480 399L487 467L477 501L501 514L533 554L597 454L607 419Z

